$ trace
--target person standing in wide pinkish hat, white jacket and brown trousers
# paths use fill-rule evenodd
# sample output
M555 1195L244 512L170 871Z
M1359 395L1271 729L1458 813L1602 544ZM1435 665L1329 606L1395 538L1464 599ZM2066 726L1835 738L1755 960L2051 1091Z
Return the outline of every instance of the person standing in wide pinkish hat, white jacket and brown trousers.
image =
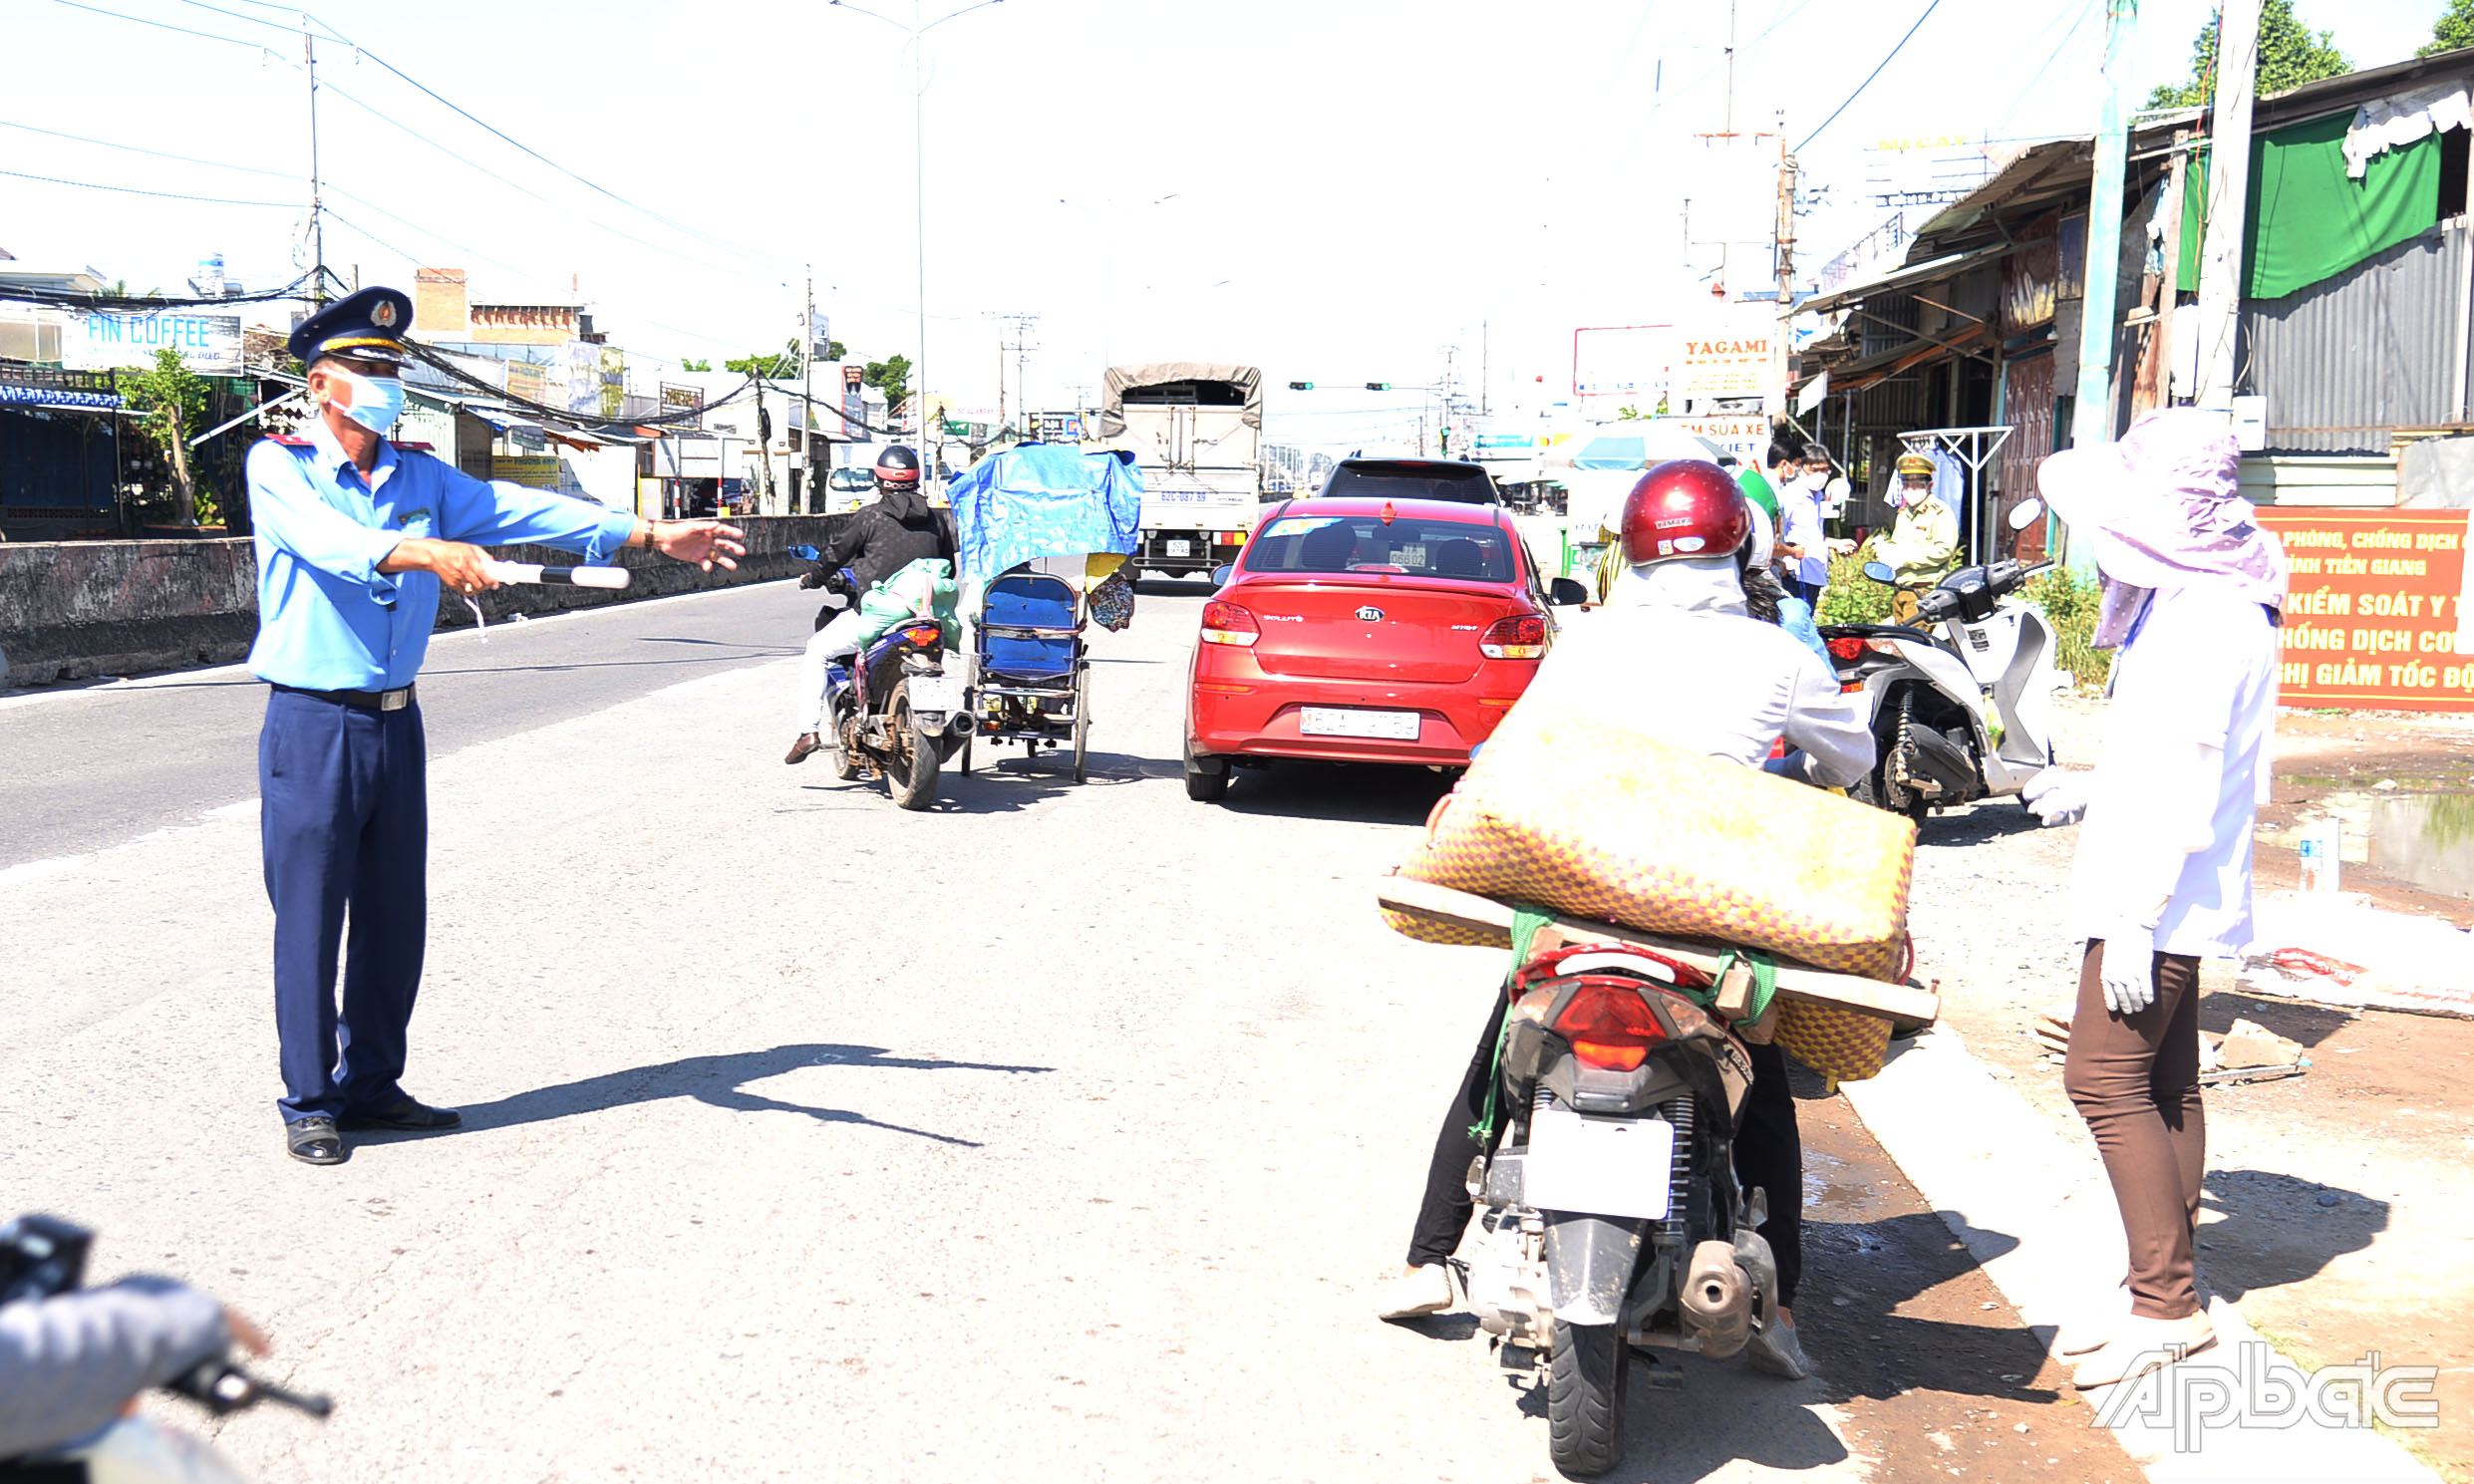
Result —
M2063 1088L2088 1120L2130 1239L2128 1313L2073 1326L2078 1385L2214 1343L2192 1247L2207 1123L2199 960L2251 940L2251 829L2269 794L2286 559L2234 492L2222 413L2167 408L2036 480L2103 574L2095 648L2113 715L2095 772L2046 769L2024 799L2083 819L2071 935L2086 940Z

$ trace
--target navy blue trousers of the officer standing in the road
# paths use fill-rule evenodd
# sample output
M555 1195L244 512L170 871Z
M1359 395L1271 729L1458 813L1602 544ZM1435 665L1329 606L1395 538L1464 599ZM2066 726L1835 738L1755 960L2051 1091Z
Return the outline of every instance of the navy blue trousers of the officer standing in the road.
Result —
M257 829L275 903L285 1123L403 1098L403 1029L428 937L426 752L418 705L376 712L292 690L267 695Z

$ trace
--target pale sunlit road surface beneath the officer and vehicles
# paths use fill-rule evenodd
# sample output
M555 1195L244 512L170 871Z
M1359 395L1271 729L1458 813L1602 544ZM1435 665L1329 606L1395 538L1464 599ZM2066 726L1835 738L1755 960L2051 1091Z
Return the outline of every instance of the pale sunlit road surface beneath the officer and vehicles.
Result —
M252 690L0 707L79 769L10 784L0 1212L336 1395L213 1430L265 1482L1551 1477L1465 1318L1371 1318L1499 972L1368 900L1440 782L1190 804L1197 599L1096 638L1089 784L1009 752L933 814L782 767L787 586L440 643L406 1081L465 1128L336 1170L275 1115ZM2133 1477L1808 1111L1826 1375L1640 1383L1616 1479Z

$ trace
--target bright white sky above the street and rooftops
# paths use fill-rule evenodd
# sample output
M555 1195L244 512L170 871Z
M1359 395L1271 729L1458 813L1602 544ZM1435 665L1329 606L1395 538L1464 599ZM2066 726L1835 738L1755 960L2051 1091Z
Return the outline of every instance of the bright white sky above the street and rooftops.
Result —
M910 17L905 0L868 2ZM272 45L280 59L59 0L0 0L0 171L285 205L0 176L0 247L136 289L178 289L213 250L252 289L289 279L307 195L299 35L282 30L294 12L92 5ZM910 59L896 27L821 0L312 10L626 198L324 42L322 173L341 218L327 260L346 277L359 265L361 282L411 287L416 262L465 267L475 297L524 299L564 294L574 275L601 329L648 369L777 349L814 262L836 339L856 356L918 356ZM1739 0L1737 129L1776 129L1784 111L1801 143L1920 10ZM2212 7L2140 10L2145 99L2187 72ZM2442 0L2296 10L2370 67L2427 40ZM1470 386L1482 324L1497 401L1534 396L1536 376L1554 391L1573 326L1707 302L1717 247L1682 267L1680 198L1707 151L1695 134L1719 129L1727 12L1717 0L1002 0L962 15L925 45L930 388L992 406L990 314L1034 312L1034 406L1069 403L1108 361L1247 361L1277 388L1277 435L1380 438L1415 418L1418 396L1338 388L1435 381L1447 346ZM2103 0L1942 0L1804 148L1808 183L1836 203L1804 223L1806 265L1888 215L1860 203L1880 139L2093 129L2103 27ZM1702 205L1695 218L1712 220ZM1766 250L1734 262L1734 279L1766 275ZM1324 388L1289 393L1291 378Z

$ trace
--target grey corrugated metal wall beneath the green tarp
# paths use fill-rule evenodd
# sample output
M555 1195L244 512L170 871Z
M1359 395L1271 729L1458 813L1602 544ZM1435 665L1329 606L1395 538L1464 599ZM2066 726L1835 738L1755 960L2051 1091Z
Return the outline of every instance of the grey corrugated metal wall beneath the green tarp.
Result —
M2454 423L2464 228L2400 242L2333 279L2241 307L2246 381L2274 453L2387 453L2395 428Z

